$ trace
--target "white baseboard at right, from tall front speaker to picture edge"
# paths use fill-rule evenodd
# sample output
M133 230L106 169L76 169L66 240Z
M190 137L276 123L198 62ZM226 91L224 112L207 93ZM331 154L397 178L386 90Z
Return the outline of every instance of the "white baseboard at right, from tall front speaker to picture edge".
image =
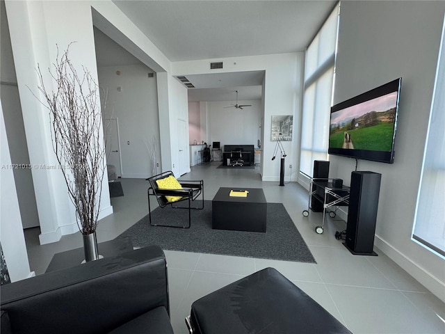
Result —
M418 264L403 255L399 250L391 246L387 241L375 235L374 244L382 250L387 257L396 262L403 270L415 278L421 285L430 290L445 303L445 284L433 276L431 273L420 267Z

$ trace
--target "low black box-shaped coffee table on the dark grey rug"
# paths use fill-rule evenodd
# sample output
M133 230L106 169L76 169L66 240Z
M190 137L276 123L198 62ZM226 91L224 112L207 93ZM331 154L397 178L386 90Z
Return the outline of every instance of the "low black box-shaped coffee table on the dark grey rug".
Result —
M229 196L231 190L220 188L211 201L211 223L216 230L266 232L267 202L263 189L243 188L247 197Z

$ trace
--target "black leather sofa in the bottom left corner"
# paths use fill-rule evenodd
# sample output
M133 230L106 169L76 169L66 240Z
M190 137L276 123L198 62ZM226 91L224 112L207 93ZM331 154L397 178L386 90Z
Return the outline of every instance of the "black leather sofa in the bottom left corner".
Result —
M172 334L165 256L149 246L1 286L1 334Z

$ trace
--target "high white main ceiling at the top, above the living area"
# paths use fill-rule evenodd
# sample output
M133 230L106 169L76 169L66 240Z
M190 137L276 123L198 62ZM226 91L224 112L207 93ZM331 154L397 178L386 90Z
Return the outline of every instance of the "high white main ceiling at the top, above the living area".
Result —
M303 51L336 1L113 1L170 61Z

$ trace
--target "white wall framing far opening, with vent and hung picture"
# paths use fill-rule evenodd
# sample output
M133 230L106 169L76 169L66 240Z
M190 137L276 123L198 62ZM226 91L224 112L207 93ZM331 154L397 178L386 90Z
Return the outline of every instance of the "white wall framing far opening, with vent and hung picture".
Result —
M223 70L209 70L209 62L223 61ZM266 71L264 79L264 138L262 138L263 164L262 180L278 181L280 179L280 162L271 161L275 143L270 141L271 116L293 115L294 120L299 120L301 113L302 75L304 73L304 53L271 54L266 56L247 56L234 58L207 59L202 61L180 61L172 63L173 75L206 74L218 72L242 72L242 71ZM206 102L203 102L206 103ZM286 151L286 166L297 166L300 148L297 138L300 128L294 122L294 139L291 142L283 142ZM209 133L209 132L207 132ZM256 144L256 141L253 143ZM269 158L270 157L270 158ZM286 180L290 177L296 180L298 172L293 170L289 175L286 168Z

